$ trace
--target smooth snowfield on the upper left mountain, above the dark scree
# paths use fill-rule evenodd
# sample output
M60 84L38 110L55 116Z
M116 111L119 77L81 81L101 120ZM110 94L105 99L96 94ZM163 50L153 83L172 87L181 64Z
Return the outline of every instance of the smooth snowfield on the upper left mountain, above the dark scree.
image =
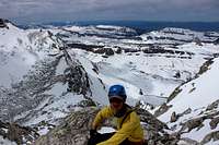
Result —
M7 26L0 29L0 86L9 87L21 81L36 61L58 53L59 43L47 31L24 31L11 23Z

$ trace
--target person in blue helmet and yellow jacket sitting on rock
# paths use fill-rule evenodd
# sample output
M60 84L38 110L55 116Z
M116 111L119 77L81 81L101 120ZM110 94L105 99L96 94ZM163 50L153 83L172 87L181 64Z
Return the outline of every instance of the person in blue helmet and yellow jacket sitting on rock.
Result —
M138 114L126 105L126 92L122 85L113 85L108 90L110 106L95 117L88 145L142 145L143 130ZM111 117L116 118L117 132L100 134L96 129Z

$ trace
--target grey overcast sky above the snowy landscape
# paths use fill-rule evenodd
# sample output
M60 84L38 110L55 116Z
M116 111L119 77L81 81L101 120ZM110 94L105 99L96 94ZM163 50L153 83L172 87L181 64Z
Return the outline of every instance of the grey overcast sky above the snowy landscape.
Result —
M219 0L0 0L0 17L58 21L217 21Z

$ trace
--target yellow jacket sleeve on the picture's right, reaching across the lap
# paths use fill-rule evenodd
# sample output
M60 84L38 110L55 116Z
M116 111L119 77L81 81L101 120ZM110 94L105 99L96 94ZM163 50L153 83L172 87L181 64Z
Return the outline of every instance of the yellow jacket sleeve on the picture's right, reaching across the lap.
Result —
M132 131L138 126L139 119L136 112L130 113L130 120L125 122L120 130L118 130L110 140L97 145L118 145L131 135Z

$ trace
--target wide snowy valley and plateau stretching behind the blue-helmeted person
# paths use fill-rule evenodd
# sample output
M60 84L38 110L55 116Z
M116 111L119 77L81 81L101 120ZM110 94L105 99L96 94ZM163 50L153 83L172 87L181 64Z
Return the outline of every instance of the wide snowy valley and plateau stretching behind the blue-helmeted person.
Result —
M79 26L54 28L50 32L68 44L68 52L76 53L91 77L97 77L103 82L105 92L112 84L123 84L127 88L128 102L131 105L138 100L153 106L162 104L176 86L193 78L200 65L219 52L218 46L209 43L201 43L200 46L183 41L183 45L177 47L175 45L163 47L168 40L163 40L160 46L149 45L149 41L137 39L137 35L135 38L119 39L107 35L103 38L99 34L105 34L105 27L113 28L113 35L119 36L120 32L115 31L118 28L114 26L101 26L103 29L96 27L92 27L95 29L92 31L93 35L88 35L91 27ZM165 31L163 35L166 36L168 32L171 34L173 31L185 32L186 36L188 34L204 36L204 33L181 28L163 31ZM172 37L180 39L178 33L173 33ZM216 39L210 36L206 38ZM107 55L107 50L113 52ZM117 52L119 50L120 52ZM107 98L102 97L105 96L102 90L102 88L92 89L95 94L93 97L97 96L95 100L106 104Z

